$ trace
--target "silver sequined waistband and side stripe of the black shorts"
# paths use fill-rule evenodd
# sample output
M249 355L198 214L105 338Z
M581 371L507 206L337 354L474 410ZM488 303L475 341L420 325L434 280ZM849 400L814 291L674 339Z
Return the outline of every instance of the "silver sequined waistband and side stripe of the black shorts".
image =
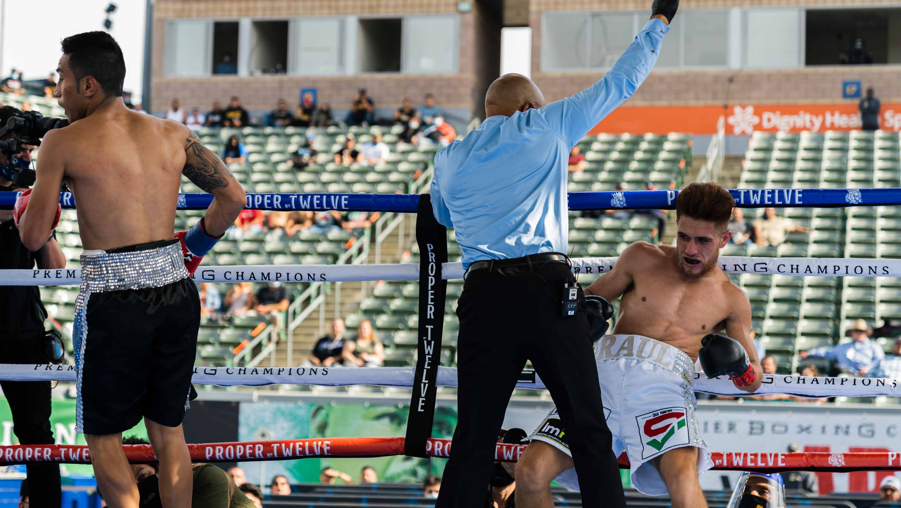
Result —
M77 391L75 432L84 432L81 379L87 336L86 307L91 293L159 288L181 281L187 276L179 244L130 253L86 251L81 254L81 286L75 300L75 324L72 330ZM186 397L185 409L188 407Z

